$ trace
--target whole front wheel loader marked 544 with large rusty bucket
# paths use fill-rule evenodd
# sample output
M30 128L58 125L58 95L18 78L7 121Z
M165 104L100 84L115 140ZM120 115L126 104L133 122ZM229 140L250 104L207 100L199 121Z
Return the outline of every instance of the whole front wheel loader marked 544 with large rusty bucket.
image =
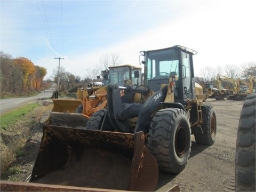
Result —
M143 86L108 84L107 108L86 126L45 123L29 183L5 182L1 190L154 191L159 171L185 169L191 134L196 143L213 145L217 119L195 81L197 52L175 45L140 53ZM146 99L135 102L135 94Z

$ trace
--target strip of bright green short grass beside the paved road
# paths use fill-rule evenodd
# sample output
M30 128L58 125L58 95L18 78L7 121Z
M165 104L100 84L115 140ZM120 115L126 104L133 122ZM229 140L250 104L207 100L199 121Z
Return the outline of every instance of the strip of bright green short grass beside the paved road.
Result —
M0 129L6 130L8 126L12 126L17 123L27 113L29 113L31 110L38 106L38 103L31 103L21 108L11 110L3 115L0 115Z

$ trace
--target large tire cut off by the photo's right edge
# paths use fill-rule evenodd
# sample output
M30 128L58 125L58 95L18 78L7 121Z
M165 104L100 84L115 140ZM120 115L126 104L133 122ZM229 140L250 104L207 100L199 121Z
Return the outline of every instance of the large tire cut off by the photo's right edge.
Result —
M255 191L256 94L247 95L241 111L235 157L235 191Z

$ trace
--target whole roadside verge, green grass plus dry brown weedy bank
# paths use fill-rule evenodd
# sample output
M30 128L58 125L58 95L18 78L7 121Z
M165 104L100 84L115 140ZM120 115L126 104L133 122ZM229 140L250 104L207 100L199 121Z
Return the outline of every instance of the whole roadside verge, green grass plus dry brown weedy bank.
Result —
M51 105L42 106L39 103L33 103L0 116L0 173L2 180L16 181L15 177L23 174L23 172L19 172L20 165L17 160L25 157L26 149L24 147L31 139L31 131L39 126L42 118L44 121L46 118L44 114L51 108ZM28 158L30 157L28 156Z

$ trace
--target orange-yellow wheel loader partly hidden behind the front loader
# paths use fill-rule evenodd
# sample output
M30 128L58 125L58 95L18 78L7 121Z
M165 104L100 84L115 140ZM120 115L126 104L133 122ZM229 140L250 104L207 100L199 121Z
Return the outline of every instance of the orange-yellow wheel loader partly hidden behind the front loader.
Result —
M118 83L120 86L142 84L141 67L122 65L109 67L102 71L104 82ZM92 86L78 89L78 99L53 99L53 109L49 122L59 126L86 125L90 116L100 109L107 107L107 86ZM121 92L123 95L123 92Z

